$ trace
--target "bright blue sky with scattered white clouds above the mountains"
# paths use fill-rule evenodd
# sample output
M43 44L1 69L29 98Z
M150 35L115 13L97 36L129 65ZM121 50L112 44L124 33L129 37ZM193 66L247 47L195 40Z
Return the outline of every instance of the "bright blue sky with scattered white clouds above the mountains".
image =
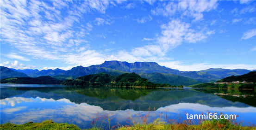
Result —
M0 0L0 65L256 69L256 0Z

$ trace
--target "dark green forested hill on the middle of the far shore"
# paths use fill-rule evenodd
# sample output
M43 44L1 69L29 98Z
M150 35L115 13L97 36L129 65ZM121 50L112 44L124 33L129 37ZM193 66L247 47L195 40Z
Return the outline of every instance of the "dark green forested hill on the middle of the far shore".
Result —
M98 73L78 77L75 80L66 80L63 85L83 85L83 86L139 86L139 87L176 87L169 84L157 84L149 82L146 78L142 78L136 73L125 73L119 76L111 76L106 73Z

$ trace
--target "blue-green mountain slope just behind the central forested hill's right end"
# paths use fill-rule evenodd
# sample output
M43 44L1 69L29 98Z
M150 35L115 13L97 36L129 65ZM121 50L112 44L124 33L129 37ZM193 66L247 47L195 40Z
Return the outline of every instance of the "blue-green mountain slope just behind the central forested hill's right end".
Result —
M192 85L201 83L189 77L183 77L175 74L164 74L164 73L150 73L150 74L139 74L141 77L148 79L153 83L168 83L171 85Z

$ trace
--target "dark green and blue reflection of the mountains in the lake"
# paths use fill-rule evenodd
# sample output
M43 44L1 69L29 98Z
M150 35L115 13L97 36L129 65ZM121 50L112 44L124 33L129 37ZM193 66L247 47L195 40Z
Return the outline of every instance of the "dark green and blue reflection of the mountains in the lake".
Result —
M76 104L87 103L100 106L103 110L154 111L160 107L178 103L199 103L214 107L255 106L255 96L247 99L228 95L225 91L205 89L138 89L116 87L11 87L1 88L0 98L27 97L46 99L68 99ZM241 92L242 94L246 92ZM255 95L255 93L250 93ZM249 100L248 100L249 99ZM250 103L249 103L250 102Z

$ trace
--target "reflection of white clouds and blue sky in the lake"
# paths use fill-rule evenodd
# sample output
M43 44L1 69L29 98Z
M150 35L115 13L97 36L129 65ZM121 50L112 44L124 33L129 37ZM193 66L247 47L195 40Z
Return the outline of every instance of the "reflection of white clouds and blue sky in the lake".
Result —
M39 101L38 101L39 100ZM22 98L22 97L12 97L1 100L1 104L5 103L11 104L11 106L6 105L5 108L1 109L1 117L4 114L4 123L10 121L16 124L23 124L28 121L42 122L46 119L53 119L53 121L58 123L68 122L78 125L80 128L84 129L87 126L91 126L91 122L97 117L109 116L113 118L114 123L125 123L128 118L138 118L141 115L149 114L149 119L154 120L155 117L159 116L159 113L165 112L169 115L177 115L184 113L186 111L196 112L253 112L256 114L256 107L210 107L206 105L201 105L198 103L178 103L175 105L160 107L156 111L134 111L127 109L125 111L108 111L103 110L100 106L88 105L86 103L76 104L68 99L45 99L45 98ZM24 102L23 106L16 106L15 103ZM32 102L32 105L29 105ZM30 103L31 104L31 103ZM40 107L37 107L40 105ZM1 106L2 107L2 106ZM7 107L7 108L6 108ZM19 111L19 112L17 112ZM250 113L251 114L251 113Z

